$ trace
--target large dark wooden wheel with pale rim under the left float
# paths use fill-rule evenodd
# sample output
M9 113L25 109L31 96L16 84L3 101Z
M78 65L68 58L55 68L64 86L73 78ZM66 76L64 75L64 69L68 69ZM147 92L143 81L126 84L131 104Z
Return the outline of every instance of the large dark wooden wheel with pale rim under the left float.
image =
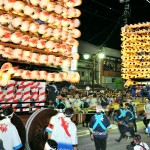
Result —
M57 114L53 109L40 109L35 111L26 123L26 144L27 150L43 150L47 140L45 128L49 123L49 119Z

